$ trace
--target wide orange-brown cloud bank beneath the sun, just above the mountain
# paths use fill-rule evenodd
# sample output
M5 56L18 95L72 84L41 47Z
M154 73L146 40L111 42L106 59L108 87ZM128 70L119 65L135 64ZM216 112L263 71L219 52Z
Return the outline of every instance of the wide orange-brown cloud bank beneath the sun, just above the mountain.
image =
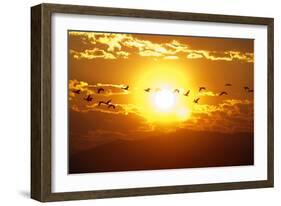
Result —
M218 105L196 105L190 119L172 127L149 122L137 112L126 114L126 110L138 110L134 105L119 106L116 113L94 105L88 107L88 112L70 110L72 153L116 140L133 141L177 134L188 138L191 131L200 131L202 135L253 132L253 102L248 100L229 99Z

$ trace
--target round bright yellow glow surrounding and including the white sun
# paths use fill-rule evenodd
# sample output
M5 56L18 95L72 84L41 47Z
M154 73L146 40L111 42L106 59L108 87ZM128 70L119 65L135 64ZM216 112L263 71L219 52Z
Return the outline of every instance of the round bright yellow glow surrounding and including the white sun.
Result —
M190 76L181 65L156 64L137 75L134 102L148 121L183 122L192 114L191 98L184 96L191 88ZM178 91L175 91L178 90Z

